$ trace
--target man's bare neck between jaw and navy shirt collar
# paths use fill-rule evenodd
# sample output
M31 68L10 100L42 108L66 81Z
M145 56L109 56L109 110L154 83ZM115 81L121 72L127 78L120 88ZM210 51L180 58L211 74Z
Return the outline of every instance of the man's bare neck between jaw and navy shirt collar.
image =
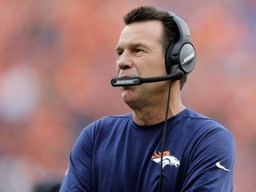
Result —
M140 109L132 109L133 120L136 124L140 125L152 125L158 124L164 121L166 116L166 108L167 108L167 97L160 102L157 103L156 106L150 106L140 108ZM171 100L169 103L168 110L168 118L172 116L176 116L186 107L182 104L180 100L180 84L178 81L172 83L171 90Z

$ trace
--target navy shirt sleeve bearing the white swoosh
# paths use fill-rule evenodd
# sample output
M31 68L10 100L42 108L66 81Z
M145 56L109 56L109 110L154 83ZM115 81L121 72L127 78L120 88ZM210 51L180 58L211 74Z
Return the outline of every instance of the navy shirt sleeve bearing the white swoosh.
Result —
M233 191L235 140L231 132L223 128L207 132L189 156L182 192Z

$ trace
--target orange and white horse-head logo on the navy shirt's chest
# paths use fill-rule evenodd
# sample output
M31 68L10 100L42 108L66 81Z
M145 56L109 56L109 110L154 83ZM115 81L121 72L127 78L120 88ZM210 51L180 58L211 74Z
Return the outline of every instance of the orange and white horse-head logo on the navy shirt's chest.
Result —
M156 164L161 164L161 156L162 153L158 152L154 153L154 156L151 157L151 159L156 162ZM175 167L179 167L180 166L180 161L175 157L175 156L171 156L171 153L169 151L164 151L163 152L163 167L162 169L164 170L164 166L165 165L174 165Z

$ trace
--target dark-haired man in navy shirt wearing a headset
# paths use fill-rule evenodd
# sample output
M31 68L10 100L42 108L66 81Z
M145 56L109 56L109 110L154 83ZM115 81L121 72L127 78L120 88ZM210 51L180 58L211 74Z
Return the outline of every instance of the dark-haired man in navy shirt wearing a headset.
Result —
M84 128L60 191L232 191L232 133L180 100L196 58L185 21L154 7L139 7L124 22L116 45L117 77L158 78L180 71L185 76L138 86L120 81L122 99L132 113L106 116ZM177 41L179 49L173 44ZM178 61L172 58L177 50Z

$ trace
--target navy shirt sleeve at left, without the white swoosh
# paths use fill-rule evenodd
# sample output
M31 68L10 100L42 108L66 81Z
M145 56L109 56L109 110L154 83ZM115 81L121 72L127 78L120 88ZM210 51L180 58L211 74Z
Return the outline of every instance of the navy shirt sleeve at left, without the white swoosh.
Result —
M69 155L60 192L92 191L92 129L84 128Z

